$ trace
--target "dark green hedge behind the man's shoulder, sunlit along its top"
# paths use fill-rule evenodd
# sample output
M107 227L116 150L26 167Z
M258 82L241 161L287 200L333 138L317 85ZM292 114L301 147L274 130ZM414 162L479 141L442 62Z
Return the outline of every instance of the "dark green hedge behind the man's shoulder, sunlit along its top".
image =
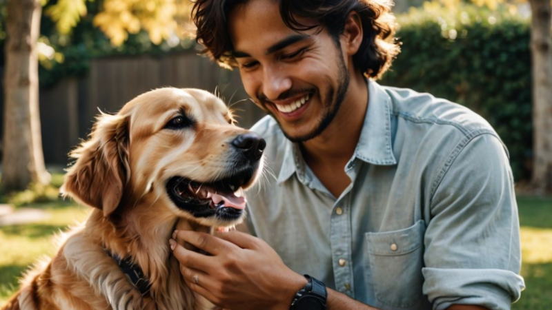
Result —
M506 10L426 3L399 17L402 52L385 85L455 101L486 118L509 149L516 180L532 155L529 23Z

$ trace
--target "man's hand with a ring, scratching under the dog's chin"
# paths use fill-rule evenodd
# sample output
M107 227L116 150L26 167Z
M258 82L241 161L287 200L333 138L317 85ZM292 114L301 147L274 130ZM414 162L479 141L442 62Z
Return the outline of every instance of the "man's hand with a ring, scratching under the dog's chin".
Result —
M175 231L170 247L188 287L226 309L289 309L306 279L266 242L239 231ZM184 242L212 256L183 247Z

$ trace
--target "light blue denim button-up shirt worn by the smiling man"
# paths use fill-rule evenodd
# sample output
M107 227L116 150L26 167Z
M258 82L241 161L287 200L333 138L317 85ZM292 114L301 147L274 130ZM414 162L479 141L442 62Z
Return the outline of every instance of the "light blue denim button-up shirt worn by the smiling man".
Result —
M267 172L247 193L248 227L291 269L381 309L509 309L520 298L517 205L492 127L429 94L368 81L351 184L334 197L277 123Z

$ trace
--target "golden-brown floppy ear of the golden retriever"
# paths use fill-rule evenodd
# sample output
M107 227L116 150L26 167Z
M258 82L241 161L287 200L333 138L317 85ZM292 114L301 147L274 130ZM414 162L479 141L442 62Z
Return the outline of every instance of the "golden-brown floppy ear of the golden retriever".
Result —
M70 156L76 161L68 169L61 194L103 210L103 216L112 214L130 177L128 118L101 114L88 141Z

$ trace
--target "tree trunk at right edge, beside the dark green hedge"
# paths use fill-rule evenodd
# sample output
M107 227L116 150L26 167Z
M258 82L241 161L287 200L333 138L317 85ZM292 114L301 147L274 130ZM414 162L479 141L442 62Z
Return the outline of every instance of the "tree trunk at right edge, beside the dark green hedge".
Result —
M533 63L533 179L538 192L552 193L551 1L530 0Z

